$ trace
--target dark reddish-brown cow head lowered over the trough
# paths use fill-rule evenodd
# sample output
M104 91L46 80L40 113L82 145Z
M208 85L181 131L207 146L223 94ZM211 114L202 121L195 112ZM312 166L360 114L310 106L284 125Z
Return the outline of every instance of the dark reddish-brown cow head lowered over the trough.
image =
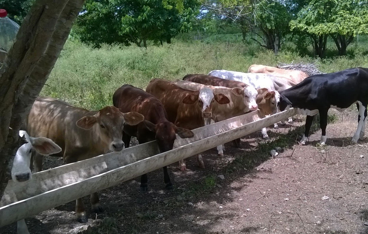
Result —
M176 134L181 138L192 138L194 133L186 128L176 127L169 121L164 121L158 124L153 124L150 121L144 120L144 124L149 131L155 133L160 152L166 152L173 149Z

